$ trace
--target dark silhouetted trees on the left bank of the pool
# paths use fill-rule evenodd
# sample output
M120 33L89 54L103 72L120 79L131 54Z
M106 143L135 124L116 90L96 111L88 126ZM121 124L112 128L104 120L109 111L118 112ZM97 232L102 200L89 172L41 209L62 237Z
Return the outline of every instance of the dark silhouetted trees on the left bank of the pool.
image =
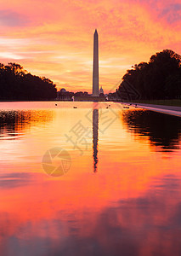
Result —
M51 100L56 93L51 80L27 73L20 64L0 63L0 100Z

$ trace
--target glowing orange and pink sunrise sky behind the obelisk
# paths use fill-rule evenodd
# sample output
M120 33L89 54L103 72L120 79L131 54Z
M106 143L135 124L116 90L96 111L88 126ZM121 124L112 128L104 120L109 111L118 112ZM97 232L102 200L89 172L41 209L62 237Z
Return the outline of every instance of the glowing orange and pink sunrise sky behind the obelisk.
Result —
M180 0L1 0L0 62L91 92L97 28L99 84L109 92L157 51L181 54L180 26Z

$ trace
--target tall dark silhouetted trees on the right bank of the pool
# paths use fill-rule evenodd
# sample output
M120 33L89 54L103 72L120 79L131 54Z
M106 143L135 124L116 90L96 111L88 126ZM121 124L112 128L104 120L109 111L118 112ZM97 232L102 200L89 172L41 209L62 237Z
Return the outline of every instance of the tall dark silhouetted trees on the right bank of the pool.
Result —
M117 93L128 100L181 98L181 56L164 49L128 69L122 79Z

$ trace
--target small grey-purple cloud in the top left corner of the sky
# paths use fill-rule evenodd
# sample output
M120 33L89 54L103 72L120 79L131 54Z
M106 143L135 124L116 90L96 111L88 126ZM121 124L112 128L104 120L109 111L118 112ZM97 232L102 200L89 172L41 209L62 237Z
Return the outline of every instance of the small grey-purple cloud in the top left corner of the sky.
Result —
M0 26L27 26L29 20L21 14L8 9L0 10Z

